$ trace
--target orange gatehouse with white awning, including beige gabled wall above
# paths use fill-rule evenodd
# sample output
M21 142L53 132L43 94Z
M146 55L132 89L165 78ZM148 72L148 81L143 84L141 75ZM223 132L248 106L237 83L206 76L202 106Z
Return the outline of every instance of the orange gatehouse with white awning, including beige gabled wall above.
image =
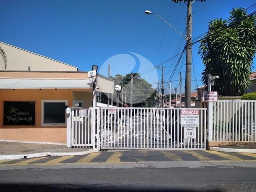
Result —
M5 43L0 46L8 60L6 70L0 60L0 141L66 143L66 108L89 108L96 99L87 72ZM113 86L113 80L97 74L97 92L112 94Z

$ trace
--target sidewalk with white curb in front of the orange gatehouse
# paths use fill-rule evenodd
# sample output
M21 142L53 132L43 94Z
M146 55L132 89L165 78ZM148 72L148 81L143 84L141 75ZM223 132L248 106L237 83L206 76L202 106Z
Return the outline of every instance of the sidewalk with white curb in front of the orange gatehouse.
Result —
M91 148L67 148L63 145L0 142L0 160L85 155L97 151Z

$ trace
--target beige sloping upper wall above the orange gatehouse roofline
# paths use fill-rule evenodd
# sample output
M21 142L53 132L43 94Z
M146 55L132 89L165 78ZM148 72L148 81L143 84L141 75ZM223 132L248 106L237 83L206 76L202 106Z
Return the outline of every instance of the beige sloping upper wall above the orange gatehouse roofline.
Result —
M7 68L0 60L0 71L77 71L78 68L24 49L0 42L7 56Z

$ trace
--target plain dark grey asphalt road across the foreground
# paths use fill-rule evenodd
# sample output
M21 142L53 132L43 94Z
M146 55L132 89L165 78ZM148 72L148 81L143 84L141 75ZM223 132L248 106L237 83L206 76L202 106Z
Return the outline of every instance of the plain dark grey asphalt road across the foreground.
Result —
M0 191L256 191L256 168L16 169Z

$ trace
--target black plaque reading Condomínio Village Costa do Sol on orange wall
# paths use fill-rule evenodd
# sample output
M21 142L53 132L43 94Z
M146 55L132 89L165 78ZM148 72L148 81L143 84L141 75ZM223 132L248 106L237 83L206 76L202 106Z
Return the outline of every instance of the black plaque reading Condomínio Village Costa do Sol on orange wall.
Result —
M35 125L35 102L4 101L4 125Z

